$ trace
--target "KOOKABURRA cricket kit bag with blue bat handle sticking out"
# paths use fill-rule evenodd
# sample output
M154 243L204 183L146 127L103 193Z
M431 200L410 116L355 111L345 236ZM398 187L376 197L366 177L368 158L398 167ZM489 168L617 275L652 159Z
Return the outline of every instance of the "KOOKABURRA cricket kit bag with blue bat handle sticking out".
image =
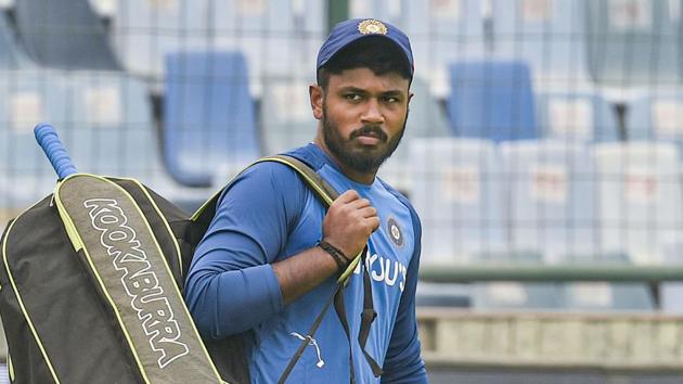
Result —
M36 137L60 179L0 243L12 382L248 383L242 337L203 341L181 295L219 193L188 217L134 179L77 174L51 126ZM261 161L292 166L332 202L334 191L304 163Z

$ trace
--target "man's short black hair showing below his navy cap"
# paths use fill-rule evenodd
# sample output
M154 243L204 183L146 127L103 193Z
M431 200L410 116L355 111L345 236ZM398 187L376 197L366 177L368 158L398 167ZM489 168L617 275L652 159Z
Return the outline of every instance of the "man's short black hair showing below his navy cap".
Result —
M412 68L401 49L384 37L371 36L350 43L337 52L318 69L318 85L327 89L330 75L338 75L346 69L369 68L382 76L397 73L412 80Z

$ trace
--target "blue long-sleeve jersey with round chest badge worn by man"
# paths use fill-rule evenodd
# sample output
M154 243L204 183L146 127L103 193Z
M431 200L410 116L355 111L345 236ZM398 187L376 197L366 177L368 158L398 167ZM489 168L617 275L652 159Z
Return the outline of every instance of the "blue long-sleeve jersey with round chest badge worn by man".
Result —
M317 145L291 153L337 191L355 189L377 208L381 228L369 240L365 266L372 280L377 318L365 350L384 369L372 374L358 343L362 274L357 268L345 290L358 383L426 383L415 321L415 286L421 227L410 203L378 178L368 185L345 177ZM271 264L315 245L325 207L285 165L261 163L243 172L220 197L208 231L198 244L185 299L199 331L220 338L246 330L253 383L274 383L310 329L336 279L317 286L286 307ZM349 348L334 310L328 310L314 343L289 375L292 383L348 383Z

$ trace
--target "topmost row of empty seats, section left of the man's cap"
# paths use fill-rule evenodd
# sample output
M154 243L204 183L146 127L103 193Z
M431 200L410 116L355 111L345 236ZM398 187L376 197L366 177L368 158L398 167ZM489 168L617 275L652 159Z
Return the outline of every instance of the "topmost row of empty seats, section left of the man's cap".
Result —
M154 82L179 50L242 50L255 86L265 74L310 73L326 34L324 2L313 0L23 0L11 10L39 65L124 69Z

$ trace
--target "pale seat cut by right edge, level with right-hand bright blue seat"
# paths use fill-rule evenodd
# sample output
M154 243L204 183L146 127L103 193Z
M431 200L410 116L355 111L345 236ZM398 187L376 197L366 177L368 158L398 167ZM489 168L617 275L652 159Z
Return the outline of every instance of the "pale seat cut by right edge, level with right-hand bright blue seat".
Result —
M628 104L629 140L671 141L683 149L683 93L653 93Z

